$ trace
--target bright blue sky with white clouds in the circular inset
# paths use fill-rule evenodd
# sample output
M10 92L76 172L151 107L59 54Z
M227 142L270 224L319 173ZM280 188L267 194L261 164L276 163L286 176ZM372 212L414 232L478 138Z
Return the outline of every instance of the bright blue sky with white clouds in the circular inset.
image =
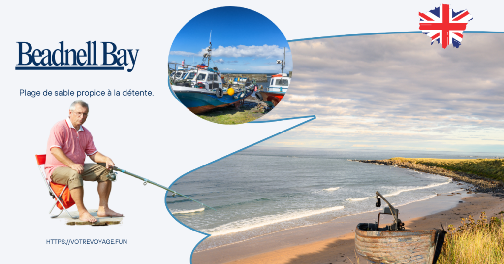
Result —
M246 18L246 19L236 19ZM202 62L212 30L210 66L225 73L281 72L277 60L286 47L287 71L292 71L289 43L282 31L265 16L244 8L222 7L196 16L178 32L168 61L192 65Z

